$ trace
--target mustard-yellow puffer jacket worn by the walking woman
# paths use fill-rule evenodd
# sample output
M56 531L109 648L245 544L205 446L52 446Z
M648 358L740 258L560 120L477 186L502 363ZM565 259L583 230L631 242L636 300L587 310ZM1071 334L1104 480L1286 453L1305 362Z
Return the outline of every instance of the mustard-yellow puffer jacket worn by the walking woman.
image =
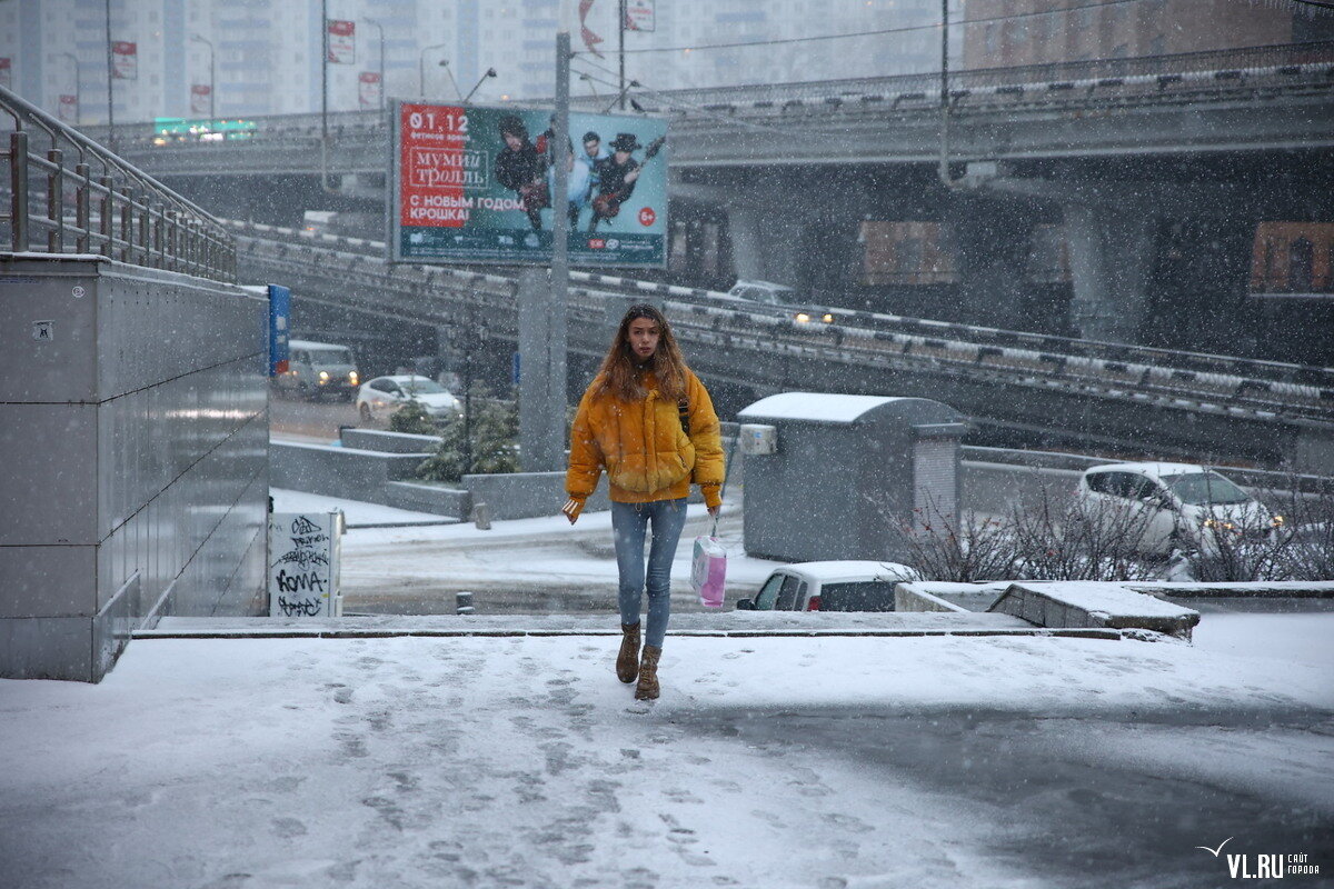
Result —
M686 371L688 437L679 405L658 393L651 372L644 373L642 385L647 397L622 401L600 392L600 376L590 384L570 429L566 492L582 504L606 469L614 502L678 500L690 493L694 481L706 504L719 505L723 444L704 384Z

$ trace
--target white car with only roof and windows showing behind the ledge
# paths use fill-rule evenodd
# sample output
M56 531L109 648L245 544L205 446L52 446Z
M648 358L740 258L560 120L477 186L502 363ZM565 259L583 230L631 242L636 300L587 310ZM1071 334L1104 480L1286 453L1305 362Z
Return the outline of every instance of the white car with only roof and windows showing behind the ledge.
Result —
M736 602L748 612L892 612L894 586L922 576L898 562L818 561L775 568L759 592Z

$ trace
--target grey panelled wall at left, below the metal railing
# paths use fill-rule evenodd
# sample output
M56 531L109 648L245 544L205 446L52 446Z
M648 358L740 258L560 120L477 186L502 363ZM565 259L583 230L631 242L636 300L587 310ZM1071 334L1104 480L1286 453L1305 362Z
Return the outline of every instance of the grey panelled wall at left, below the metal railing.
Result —
M97 681L163 613L264 596L268 301L0 257L0 676Z

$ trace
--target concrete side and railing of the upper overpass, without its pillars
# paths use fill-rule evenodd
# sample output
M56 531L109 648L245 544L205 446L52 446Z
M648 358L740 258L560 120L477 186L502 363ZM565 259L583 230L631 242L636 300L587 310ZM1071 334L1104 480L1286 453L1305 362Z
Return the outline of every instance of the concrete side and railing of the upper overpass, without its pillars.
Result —
M926 73L650 91L639 103L671 119L672 163L683 172L934 164L940 87ZM947 92L952 161L1334 148L1334 43L964 71ZM149 124L131 124L117 127L117 144L157 177L386 172L380 112L328 115L323 160L320 115L255 121L249 140L171 144L155 144ZM107 136L104 127L87 131Z

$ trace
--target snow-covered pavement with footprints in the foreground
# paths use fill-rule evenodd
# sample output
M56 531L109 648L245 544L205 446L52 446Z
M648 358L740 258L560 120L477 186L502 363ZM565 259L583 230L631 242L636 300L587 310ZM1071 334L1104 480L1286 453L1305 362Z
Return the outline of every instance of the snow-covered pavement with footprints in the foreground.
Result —
M1183 642L140 638L0 681L7 889L1082 889L1334 866L1325 664ZM1285 885L1321 885L1294 877Z

